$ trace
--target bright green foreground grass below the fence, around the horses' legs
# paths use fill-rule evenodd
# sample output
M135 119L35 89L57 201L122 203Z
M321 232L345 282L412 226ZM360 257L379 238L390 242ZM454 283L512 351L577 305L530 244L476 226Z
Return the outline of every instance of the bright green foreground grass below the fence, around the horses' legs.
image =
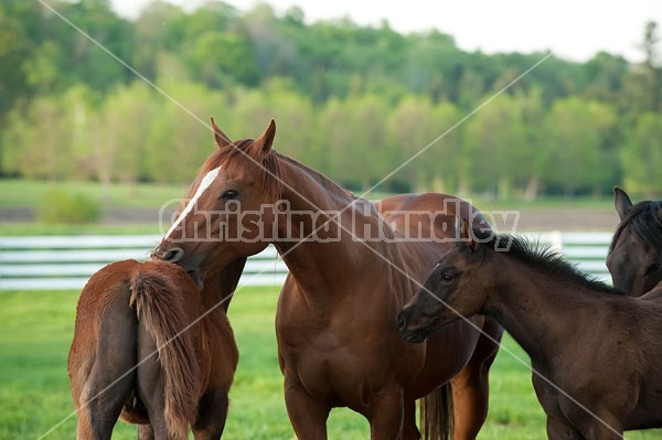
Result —
M277 288L245 288L231 305L241 359L231 394L224 439L292 439L276 357L274 310ZM75 417L66 377L77 292L0 292L0 439L72 439ZM527 356L509 337L504 347ZM491 373L490 416L479 439L543 439L545 418L531 386L531 372L502 350ZM58 425L62 423L62 425ZM359 415L332 411L331 439L366 439ZM119 422L114 439L135 439ZM660 439L658 431L628 439Z

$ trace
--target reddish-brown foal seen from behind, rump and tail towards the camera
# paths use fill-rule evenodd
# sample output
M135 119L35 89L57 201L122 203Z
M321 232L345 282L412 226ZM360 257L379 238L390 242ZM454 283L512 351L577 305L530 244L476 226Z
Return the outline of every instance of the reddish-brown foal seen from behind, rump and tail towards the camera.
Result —
M188 439L189 426L196 440L221 438L238 354L215 302L169 262L96 272L78 300L67 364L77 438L110 439L118 417L139 425L139 439Z

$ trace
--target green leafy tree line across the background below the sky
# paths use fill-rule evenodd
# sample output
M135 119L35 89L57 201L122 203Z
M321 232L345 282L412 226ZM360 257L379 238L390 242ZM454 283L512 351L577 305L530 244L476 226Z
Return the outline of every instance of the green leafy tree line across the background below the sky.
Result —
M491 99L546 54L467 53L450 35L387 22L307 24L300 9L266 3L185 12L153 1L132 21L108 0L50 4L0 3L1 178L189 182L213 148L213 115L231 138L274 117L277 150L355 191L662 187L653 22L641 64L551 56Z

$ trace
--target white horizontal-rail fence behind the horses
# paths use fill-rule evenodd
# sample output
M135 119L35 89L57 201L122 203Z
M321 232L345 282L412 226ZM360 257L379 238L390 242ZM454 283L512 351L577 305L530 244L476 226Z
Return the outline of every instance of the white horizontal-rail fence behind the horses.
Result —
M610 233L538 233L533 239L552 245L596 278L610 281L605 258ZM105 265L134 258L145 260L160 236L43 236L0 237L0 290L82 289ZM239 285L278 286L287 266L273 246L248 258Z

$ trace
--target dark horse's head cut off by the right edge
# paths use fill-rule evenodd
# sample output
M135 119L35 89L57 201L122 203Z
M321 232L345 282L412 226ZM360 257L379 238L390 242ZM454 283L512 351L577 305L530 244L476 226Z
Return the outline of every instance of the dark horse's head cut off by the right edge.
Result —
M613 192L620 224L609 247L607 267L613 287L639 297L662 281L662 201L632 204L620 187Z

